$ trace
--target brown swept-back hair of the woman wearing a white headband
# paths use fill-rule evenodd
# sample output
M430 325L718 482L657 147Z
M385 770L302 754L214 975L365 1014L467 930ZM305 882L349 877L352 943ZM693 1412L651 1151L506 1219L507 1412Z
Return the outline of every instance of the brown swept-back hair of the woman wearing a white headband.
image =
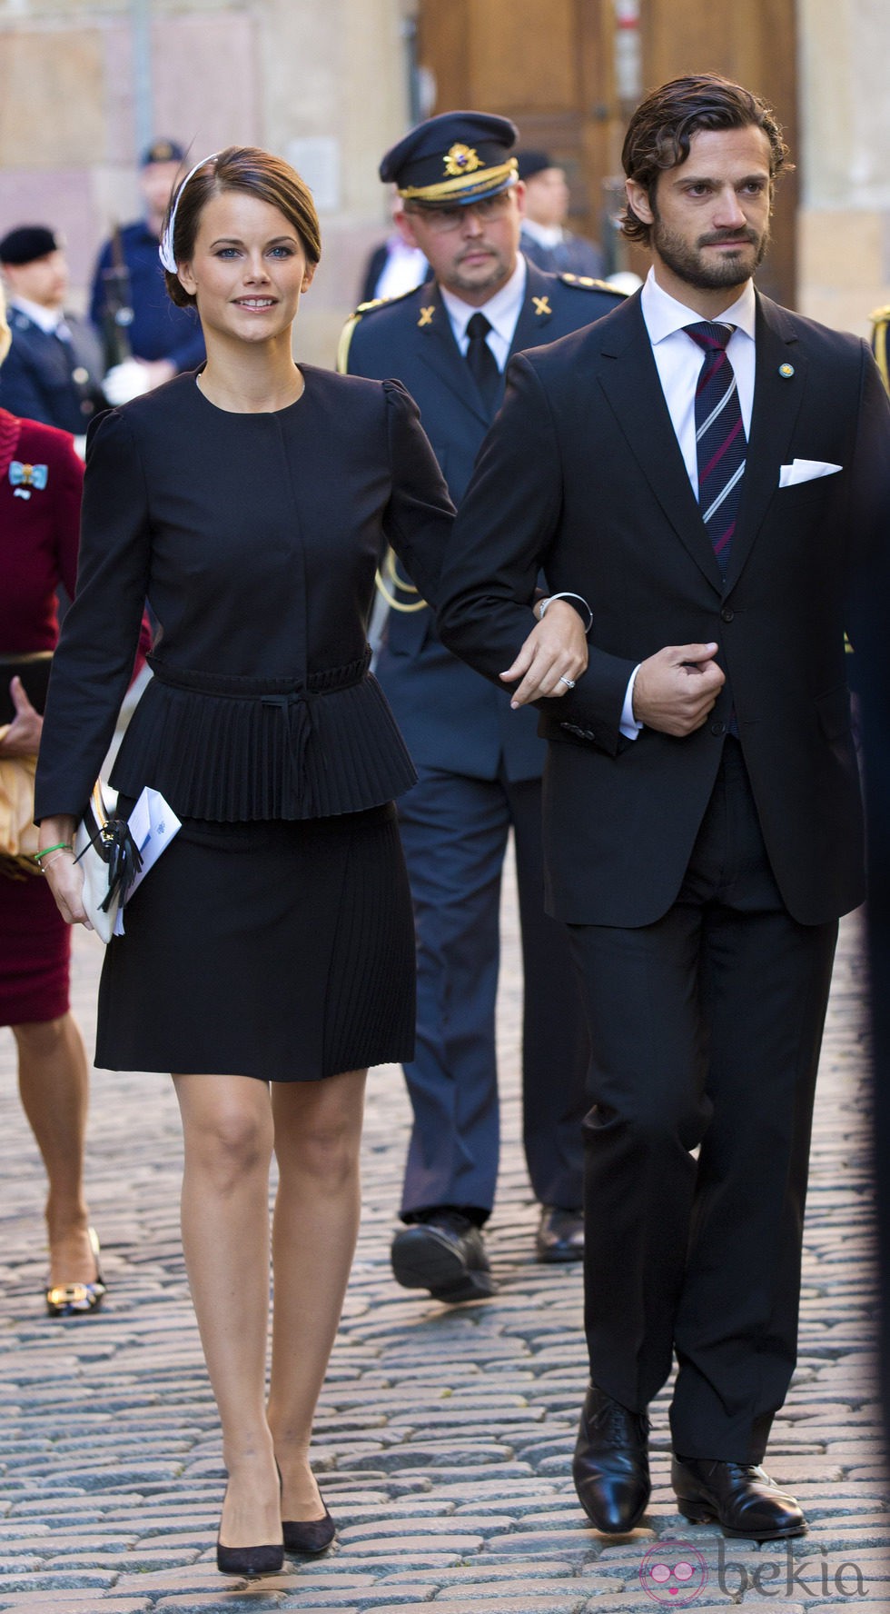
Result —
M202 213L211 197L222 195L224 190L243 190L284 213L300 237L306 261L314 268L321 258L321 228L313 194L290 163L274 157L272 152L263 152L258 145L227 145L216 157L208 157L189 182L174 190L164 232L176 213L173 255L177 263L190 263ZM193 308L195 299L177 274L164 270L164 281L168 295L177 308Z

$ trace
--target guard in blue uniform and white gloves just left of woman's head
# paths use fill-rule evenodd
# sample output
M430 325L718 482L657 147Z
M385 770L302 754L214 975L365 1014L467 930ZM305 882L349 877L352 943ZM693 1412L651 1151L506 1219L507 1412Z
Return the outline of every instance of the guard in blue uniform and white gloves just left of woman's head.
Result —
M176 140L160 139L147 147L139 171L143 216L113 231L94 271L94 324L98 329L113 328L121 300L129 316L126 347L110 353L108 395L113 404L150 392L182 370L197 370L205 360L202 328L190 308L171 303L158 261L164 213L184 160L185 152Z

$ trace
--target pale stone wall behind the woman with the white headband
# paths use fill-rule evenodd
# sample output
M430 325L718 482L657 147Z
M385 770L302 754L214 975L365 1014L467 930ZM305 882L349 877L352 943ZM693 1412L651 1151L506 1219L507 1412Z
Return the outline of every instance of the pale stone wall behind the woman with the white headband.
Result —
M298 349L329 363L385 232L377 161L408 124L403 0L155 0L153 132L195 158L232 142L289 157L316 192L324 257ZM113 220L139 213L126 0L0 0L0 231L64 231L82 307Z

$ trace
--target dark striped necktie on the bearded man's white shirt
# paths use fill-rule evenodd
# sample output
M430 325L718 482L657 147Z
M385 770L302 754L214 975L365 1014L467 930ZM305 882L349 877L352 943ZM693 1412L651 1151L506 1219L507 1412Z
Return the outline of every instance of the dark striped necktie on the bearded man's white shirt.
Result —
M735 371L726 352L735 326L703 320L684 329L705 352L695 389L698 505L726 579L748 447Z

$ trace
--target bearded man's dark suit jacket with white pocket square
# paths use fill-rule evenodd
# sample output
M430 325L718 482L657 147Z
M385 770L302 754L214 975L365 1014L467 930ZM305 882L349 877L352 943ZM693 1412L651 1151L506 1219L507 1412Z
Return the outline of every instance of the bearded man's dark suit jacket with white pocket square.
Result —
M888 405L867 345L758 297L748 462L726 583L638 294L518 357L448 547L443 641L495 679L539 568L593 608L590 665L542 702L548 907L638 926L674 902L732 705L782 899L806 925L863 897L843 633L858 546L887 523ZM835 475L780 487L795 458ZM634 667L717 641L727 683L685 739L619 720Z

